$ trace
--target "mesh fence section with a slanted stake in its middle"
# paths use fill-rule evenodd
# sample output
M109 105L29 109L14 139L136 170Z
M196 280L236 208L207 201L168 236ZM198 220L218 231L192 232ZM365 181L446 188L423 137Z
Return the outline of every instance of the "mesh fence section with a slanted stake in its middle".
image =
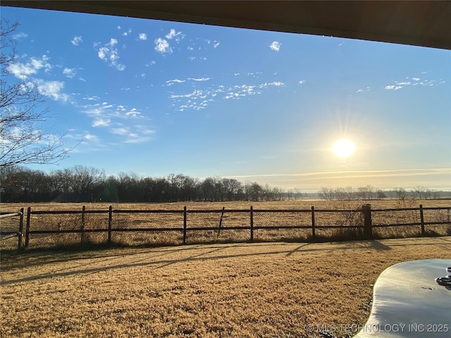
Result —
M249 239L249 211L187 213L187 243L246 242Z

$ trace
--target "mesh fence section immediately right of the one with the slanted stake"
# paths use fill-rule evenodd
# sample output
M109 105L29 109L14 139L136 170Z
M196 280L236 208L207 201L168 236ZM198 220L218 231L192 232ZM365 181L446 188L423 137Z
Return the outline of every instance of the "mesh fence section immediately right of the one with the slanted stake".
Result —
M254 227L257 241L307 239L311 236L311 211L254 211Z

